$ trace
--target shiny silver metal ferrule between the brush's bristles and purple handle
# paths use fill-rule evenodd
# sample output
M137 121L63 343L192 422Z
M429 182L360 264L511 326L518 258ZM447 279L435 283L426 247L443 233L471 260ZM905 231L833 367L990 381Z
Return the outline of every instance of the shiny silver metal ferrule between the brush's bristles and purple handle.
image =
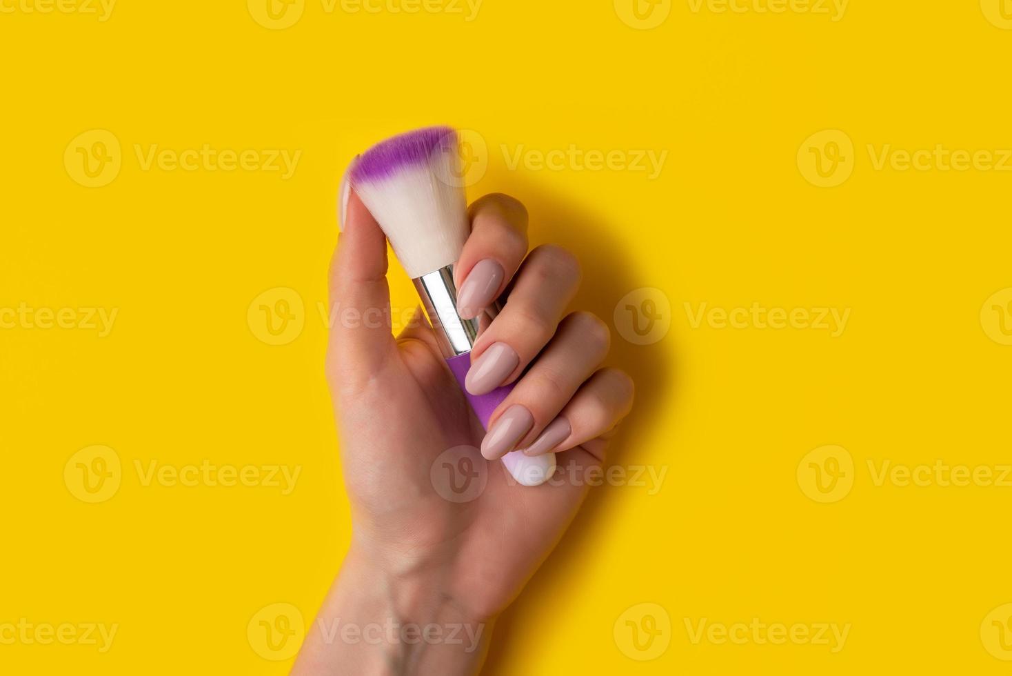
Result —
M475 319L460 319L456 312L456 285L453 283L452 265L423 274L412 281L422 299L425 314L429 316L439 348L447 359L470 352L478 337L499 314L499 304L496 303Z

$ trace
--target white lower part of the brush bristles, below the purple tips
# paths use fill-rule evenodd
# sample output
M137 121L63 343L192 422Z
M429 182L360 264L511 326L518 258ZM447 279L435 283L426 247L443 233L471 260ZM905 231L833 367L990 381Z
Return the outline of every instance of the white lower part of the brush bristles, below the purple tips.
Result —
M455 148L427 153L389 171L355 175L351 183L387 233L412 278L455 263L471 232Z

